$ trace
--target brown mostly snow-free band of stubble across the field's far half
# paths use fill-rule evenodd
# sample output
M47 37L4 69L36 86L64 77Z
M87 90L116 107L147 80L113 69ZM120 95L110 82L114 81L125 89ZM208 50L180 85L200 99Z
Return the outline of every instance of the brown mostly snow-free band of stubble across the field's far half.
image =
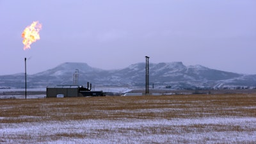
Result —
M255 116L256 95L164 95L1 99L1 123L120 118Z

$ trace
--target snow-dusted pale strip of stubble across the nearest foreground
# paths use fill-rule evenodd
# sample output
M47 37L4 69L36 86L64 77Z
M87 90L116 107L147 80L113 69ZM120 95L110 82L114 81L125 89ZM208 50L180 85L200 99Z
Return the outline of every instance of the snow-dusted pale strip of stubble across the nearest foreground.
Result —
M255 143L256 118L209 117L0 124L0 143Z

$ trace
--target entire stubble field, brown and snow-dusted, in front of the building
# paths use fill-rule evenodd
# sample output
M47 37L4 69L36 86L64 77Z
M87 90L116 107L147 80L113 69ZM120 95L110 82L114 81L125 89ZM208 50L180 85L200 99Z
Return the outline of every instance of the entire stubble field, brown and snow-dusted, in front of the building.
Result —
M256 94L0 99L0 143L256 143Z

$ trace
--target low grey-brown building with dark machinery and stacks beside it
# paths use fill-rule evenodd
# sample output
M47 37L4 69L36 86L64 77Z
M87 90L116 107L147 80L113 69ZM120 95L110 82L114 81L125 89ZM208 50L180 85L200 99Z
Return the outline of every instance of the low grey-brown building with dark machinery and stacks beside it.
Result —
M92 84L87 88L81 85L57 85L46 88L46 97L97 97L105 96L102 91L91 91Z

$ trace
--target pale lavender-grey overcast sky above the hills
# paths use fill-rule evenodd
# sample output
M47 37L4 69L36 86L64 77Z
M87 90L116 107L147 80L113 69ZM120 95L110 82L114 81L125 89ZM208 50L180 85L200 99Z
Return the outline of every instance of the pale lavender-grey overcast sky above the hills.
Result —
M24 51L22 31L42 24ZM102 69L133 63L256 74L255 0L0 0L0 75L35 74L65 62Z

